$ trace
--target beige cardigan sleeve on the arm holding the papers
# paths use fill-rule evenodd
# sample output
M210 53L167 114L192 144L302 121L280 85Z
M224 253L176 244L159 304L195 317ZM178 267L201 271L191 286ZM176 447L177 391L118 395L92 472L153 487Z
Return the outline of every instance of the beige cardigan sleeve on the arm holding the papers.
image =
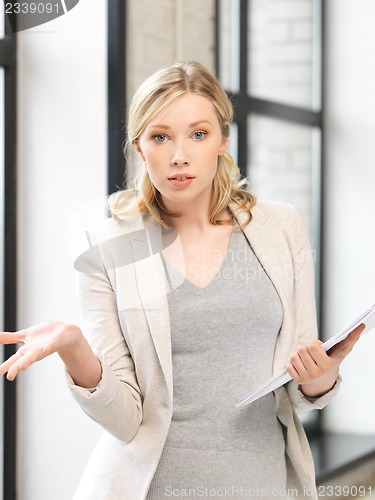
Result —
M293 259L294 293L293 317L294 328L298 332L297 345L304 345L318 338L315 287L314 261L316 253L311 248L310 238L305 223L299 212L292 206L291 239L289 246ZM341 377L336 380L334 387L319 398L308 398L300 390L294 380L287 384L290 401L298 413L312 409L322 409L339 390Z

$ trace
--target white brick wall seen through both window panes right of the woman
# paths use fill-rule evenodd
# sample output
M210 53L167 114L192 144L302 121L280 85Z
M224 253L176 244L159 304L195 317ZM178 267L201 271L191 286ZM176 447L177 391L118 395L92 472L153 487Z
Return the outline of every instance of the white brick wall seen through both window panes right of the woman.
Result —
M251 0L249 93L311 108L314 101L315 0ZM316 75L314 75L316 76ZM260 198L293 203L312 229L314 135L309 127L249 119L249 180ZM319 151L315 151L319 157ZM316 211L315 211L316 212Z

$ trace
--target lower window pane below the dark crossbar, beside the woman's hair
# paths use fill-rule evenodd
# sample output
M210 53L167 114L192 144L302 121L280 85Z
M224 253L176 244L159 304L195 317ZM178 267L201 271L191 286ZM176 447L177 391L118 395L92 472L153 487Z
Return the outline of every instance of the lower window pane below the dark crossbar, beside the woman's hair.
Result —
M292 203L312 232L313 193L319 192L317 131L255 114L248 120L250 189L258 198Z

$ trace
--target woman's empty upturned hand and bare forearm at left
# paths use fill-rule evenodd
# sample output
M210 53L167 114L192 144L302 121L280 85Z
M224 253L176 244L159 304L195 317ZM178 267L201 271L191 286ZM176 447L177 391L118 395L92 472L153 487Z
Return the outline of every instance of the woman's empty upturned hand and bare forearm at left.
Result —
M0 333L0 344L22 344L0 365L0 377L14 380L20 371L57 352L77 385L95 387L101 365L81 330L61 321L47 321L19 330Z

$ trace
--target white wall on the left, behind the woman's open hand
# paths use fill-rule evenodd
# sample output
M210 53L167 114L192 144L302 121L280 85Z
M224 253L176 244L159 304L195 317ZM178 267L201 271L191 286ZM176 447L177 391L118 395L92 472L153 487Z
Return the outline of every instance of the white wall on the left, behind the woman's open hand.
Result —
M106 2L19 34L19 326L79 324L65 225L106 192ZM57 356L19 377L20 500L68 500L99 429Z

